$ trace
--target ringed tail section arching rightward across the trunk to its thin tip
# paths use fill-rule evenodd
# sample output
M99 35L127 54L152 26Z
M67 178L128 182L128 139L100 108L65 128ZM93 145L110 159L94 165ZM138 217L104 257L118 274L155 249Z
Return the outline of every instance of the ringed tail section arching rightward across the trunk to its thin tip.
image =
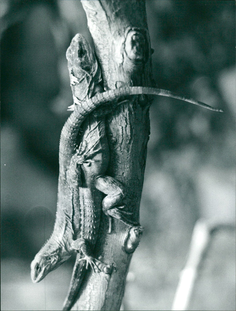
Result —
M221 109L211 107L207 104L202 103L201 101L194 100L193 98L188 98L183 95L172 93L171 91L168 91L168 90L158 89L155 87L146 87L146 86L125 86L119 89L114 89L114 90L109 90L103 93L98 93L83 103L83 109L84 111L87 111L87 109L91 109L91 108L95 109L98 103L102 104L107 101L115 100L117 97L120 97L120 96L138 95L138 94L160 95L160 96L176 98L176 99L183 100L191 104L204 107L206 109L223 112L223 110Z

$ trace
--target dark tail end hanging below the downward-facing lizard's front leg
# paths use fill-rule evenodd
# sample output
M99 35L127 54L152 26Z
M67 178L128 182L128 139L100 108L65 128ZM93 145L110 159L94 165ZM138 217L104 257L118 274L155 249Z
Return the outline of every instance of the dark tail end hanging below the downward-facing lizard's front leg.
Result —
M66 299L63 304L63 311L64 310L70 310L72 305L75 302L75 298L77 296L79 287L84 279L85 272L86 272L86 262L84 260L79 261L79 259L82 257L82 253L77 253L76 260L75 260L75 266L72 272L72 277L70 281L70 287L66 296Z

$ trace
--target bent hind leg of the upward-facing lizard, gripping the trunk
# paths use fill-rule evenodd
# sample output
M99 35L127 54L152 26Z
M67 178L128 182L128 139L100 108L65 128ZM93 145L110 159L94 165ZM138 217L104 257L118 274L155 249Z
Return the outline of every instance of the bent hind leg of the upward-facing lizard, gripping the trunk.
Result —
M109 219L109 233L111 233L111 217L121 220L128 226L137 225L136 222L126 217L132 215L132 213L124 211L125 188L117 179L111 176L99 176L95 179L94 186L99 191L107 194L102 201L102 211Z

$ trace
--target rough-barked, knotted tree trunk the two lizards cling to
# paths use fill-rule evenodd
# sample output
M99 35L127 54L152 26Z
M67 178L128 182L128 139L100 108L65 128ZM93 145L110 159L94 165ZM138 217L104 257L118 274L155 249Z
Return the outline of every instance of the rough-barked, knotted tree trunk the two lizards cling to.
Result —
M151 47L145 1L81 1L102 68L104 89L152 86ZM107 174L126 188L131 220L139 221L147 141L149 102L132 97L106 118L110 148ZM132 254L125 252L130 227L113 219L112 232L102 216L96 258L113 263L111 275L90 271L71 310L120 310Z

